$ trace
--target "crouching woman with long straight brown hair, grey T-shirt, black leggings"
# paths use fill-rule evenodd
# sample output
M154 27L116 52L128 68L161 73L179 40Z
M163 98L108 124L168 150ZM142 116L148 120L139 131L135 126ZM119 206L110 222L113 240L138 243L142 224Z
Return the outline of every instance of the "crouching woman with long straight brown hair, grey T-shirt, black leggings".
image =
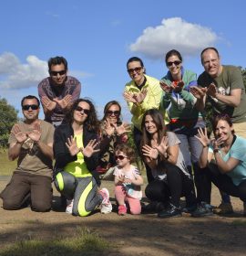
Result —
M196 206L193 181L179 150L179 139L175 133L167 132L163 116L156 109L145 112L141 128L142 155L154 177L145 194L151 202L168 206L159 211L159 218L179 217L182 195L186 197L187 207Z

